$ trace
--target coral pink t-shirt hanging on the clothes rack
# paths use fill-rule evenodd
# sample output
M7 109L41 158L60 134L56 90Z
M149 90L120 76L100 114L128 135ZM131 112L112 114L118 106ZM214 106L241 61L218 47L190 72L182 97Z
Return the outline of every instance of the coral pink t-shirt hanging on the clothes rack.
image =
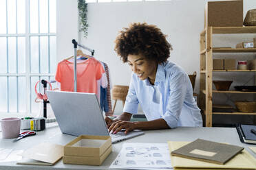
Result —
M76 91L98 93L97 80L105 75L103 66L94 58L80 62L76 66ZM74 64L63 60L58 63L55 80L61 83L61 91L74 91Z

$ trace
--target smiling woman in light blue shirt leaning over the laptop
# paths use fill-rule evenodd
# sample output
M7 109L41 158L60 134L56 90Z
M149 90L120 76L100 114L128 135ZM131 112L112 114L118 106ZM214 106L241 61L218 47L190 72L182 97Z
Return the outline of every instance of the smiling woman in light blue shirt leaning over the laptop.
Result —
M156 25L133 23L117 36L115 51L133 73L123 113L114 120L105 117L111 133L202 126L189 76L167 60L171 49ZM138 104L148 121L129 121Z

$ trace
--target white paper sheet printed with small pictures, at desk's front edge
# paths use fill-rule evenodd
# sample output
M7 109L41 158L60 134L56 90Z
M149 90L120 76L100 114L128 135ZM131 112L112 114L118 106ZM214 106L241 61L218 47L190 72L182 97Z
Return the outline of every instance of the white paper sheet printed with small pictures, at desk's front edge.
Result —
M172 169L167 143L124 143L111 169Z

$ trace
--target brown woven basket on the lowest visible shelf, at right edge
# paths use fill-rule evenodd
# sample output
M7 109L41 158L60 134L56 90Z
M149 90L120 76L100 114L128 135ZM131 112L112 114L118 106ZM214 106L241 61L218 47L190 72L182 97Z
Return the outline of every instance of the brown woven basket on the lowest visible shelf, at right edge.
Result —
M256 112L256 101L235 101L239 112Z

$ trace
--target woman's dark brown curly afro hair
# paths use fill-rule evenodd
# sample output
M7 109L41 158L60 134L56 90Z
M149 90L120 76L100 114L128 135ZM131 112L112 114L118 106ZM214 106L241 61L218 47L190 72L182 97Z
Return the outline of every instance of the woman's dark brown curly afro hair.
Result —
M115 42L115 51L123 62L127 62L129 54L140 54L160 64L167 61L172 50L166 35L156 25L147 23L132 23L128 28L123 28Z

